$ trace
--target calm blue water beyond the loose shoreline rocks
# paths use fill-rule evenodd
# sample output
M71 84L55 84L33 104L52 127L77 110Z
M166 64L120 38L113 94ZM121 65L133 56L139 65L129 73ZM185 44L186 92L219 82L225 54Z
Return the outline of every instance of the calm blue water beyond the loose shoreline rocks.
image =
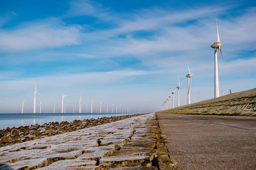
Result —
M1 113L0 129L6 127L28 126L32 124L43 125L49 122L62 122L84 119L96 119L99 117L122 116L134 113Z

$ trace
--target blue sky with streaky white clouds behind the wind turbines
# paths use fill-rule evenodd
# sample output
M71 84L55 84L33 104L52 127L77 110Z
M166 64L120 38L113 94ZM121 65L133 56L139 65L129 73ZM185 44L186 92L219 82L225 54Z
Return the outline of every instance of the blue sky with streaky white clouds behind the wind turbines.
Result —
M215 14L220 95L256 88L256 2L0 0L0 113L159 111L180 79L180 105L214 97Z

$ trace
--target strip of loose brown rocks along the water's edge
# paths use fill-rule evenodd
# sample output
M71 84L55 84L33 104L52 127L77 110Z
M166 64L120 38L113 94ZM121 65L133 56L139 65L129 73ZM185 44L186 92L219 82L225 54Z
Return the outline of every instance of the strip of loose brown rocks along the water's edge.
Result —
M105 123L116 122L122 119L128 119L143 114L132 114L125 116L102 117L98 119L74 120L73 122L49 122L43 125L30 125L20 127L7 127L0 130L0 147L41 139L47 136L58 135L62 133L72 132L87 127L102 125Z

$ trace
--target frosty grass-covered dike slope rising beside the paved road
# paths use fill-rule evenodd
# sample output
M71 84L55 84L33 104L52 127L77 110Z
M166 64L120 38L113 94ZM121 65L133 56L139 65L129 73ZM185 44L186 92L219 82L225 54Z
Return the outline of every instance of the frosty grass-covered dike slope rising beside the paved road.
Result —
M161 112L181 114L256 116L256 88Z

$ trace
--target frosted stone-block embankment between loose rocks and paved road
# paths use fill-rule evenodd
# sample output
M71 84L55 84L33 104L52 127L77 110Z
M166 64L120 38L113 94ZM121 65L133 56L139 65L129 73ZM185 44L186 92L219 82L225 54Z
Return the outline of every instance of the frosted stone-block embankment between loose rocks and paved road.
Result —
M155 113L149 113L0 147L0 169L170 170L163 144L157 151L163 139L157 127Z

